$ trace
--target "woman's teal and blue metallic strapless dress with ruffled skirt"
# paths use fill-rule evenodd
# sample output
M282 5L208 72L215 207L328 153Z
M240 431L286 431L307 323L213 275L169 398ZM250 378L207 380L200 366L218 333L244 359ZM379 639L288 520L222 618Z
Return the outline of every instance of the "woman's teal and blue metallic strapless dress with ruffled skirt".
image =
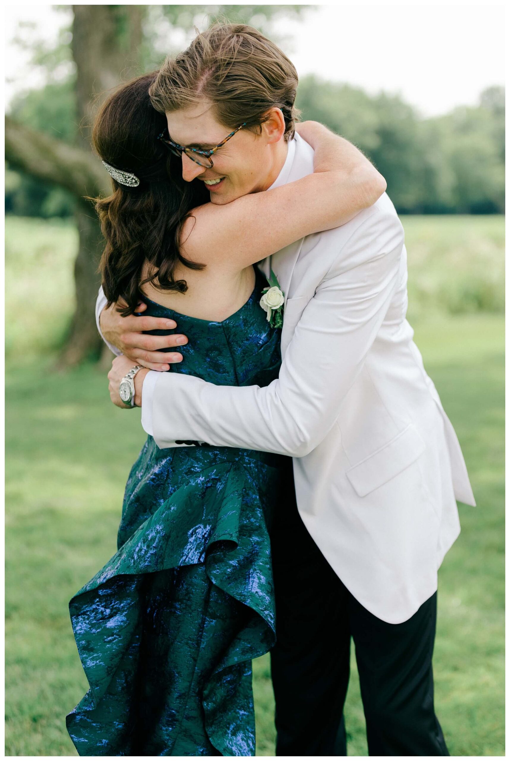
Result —
M280 331L258 301L223 322L176 314L171 371L265 386ZM173 333L169 330L164 333ZM163 331L159 331L163 333ZM198 442L193 442L198 444ZM149 436L129 474L118 552L69 603L90 689L66 717L81 756L253 756L252 658L275 641L269 529L288 460Z

